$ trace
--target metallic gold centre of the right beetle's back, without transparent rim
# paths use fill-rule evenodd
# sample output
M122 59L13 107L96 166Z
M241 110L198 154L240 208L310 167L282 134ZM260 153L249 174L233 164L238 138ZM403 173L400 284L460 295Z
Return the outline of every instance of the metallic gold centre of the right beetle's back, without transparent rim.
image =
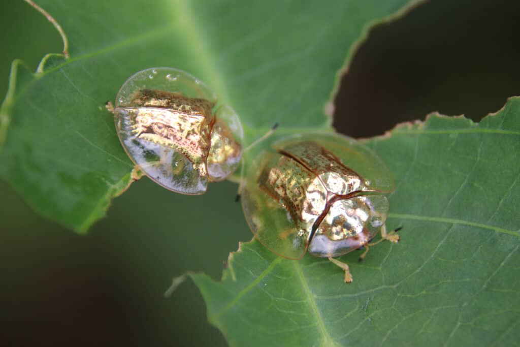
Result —
M312 142L280 150L278 161L266 166L258 185L279 201L298 229L307 230L320 221L318 233L340 240L362 232L368 214L359 199L329 201L361 188L363 179L332 153Z

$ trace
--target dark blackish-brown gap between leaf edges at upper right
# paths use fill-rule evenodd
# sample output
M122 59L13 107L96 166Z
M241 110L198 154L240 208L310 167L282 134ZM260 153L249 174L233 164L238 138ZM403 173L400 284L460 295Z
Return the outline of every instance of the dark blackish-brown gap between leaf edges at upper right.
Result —
M334 126L353 137L438 111L478 121L520 95L520 2L435 0L370 31L344 75Z

